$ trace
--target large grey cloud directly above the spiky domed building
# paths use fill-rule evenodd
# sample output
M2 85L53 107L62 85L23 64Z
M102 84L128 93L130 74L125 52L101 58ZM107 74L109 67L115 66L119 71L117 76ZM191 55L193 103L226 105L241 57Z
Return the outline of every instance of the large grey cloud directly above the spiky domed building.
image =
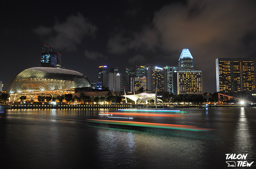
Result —
M53 27L40 26L34 31L55 50L74 51L85 35L95 36L97 27L81 13L69 16L65 22L56 20Z

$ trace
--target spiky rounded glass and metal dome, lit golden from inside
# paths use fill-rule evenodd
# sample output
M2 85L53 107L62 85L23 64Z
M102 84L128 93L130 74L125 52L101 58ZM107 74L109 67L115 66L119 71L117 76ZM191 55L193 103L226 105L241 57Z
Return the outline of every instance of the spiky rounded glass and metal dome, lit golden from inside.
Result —
M88 78L76 71L53 67L32 67L13 78L8 92L14 94L90 86Z

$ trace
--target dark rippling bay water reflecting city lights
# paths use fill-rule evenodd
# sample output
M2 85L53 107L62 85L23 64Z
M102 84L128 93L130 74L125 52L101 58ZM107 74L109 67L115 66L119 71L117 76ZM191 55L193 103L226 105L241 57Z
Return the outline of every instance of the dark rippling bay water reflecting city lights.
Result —
M0 168L256 168L256 108L180 110L187 113L176 113L178 117L112 115L133 118L116 119L99 114L120 113L117 109L6 109L0 113ZM98 124L86 119L214 130ZM247 156L226 159L225 154ZM238 161L253 163L240 167ZM236 167L231 167L232 162Z

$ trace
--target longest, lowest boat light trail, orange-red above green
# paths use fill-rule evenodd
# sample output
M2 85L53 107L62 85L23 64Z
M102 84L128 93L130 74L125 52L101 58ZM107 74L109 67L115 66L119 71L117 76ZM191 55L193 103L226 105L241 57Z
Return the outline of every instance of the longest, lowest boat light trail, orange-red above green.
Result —
M170 128L170 129L191 130L191 131L213 130L213 129L208 129L208 128L199 128L197 126L148 123L148 122L130 122L130 121L98 120L98 119L86 119L86 121L93 122L93 123L117 124L117 125L140 126L140 127L155 127L155 128Z

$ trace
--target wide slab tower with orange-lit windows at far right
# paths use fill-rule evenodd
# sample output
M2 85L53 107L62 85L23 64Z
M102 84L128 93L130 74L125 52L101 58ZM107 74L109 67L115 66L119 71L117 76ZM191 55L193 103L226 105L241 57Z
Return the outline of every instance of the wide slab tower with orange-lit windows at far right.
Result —
M255 89L254 80L253 59L216 59L217 92L253 91Z

